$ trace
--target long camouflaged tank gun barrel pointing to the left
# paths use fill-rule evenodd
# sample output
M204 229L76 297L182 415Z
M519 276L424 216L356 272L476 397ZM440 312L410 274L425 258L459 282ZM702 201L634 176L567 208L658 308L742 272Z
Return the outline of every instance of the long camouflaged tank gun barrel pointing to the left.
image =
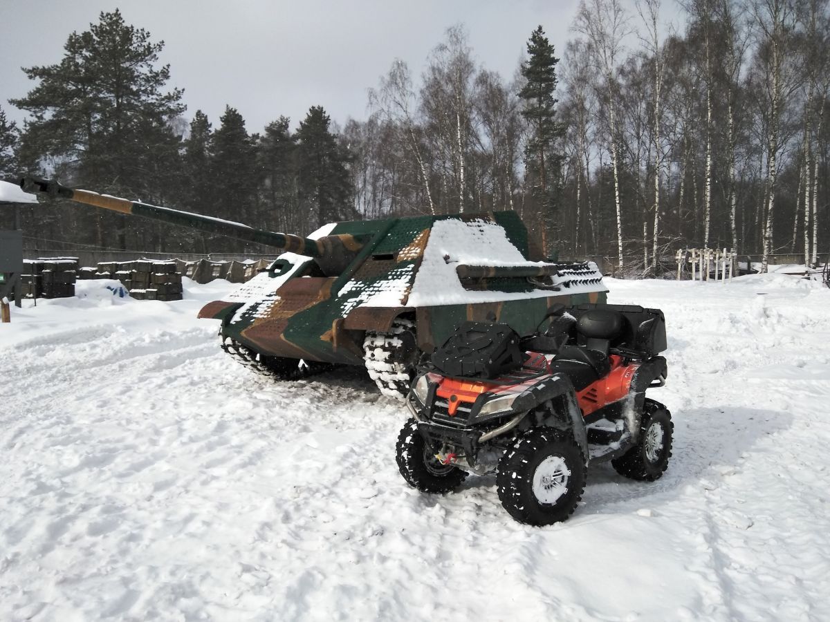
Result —
M316 260L323 260L319 263L325 262L327 265L348 263L363 245L363 241L355 236L324 236L317 240L311 240L310 238L292 236L287 233L256 229L240 222L225 221L212 216L193 214L189 211L128 201L127 199L110 197L110 195L98 194L98 192L90 192L89 190L73 190L55 180L42 179L41 177L22 177L20 187L26 192L44 192L51 197L71 199L71 201L117 211L121 214L142 216L154 221L168 222L171 225L186 226L207 233L236 238L237 240L273 246L297 255L306 255L314 257ZM340 255L339 260L334 260L335 255Z

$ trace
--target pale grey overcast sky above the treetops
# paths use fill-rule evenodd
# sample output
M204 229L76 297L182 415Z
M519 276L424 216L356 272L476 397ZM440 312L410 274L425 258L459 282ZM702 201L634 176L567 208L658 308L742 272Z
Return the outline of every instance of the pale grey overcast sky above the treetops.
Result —
M447 27L466 25L476 60L513 75L530 32L544 27L557 53L572 36L579 0L0 0L0 105L18 123L26 114L7 100L35 84L22 66L60 61L70 32L101 11L164 40L169 85L183 88L188 119L203 109L214 127L226 104L249 132L281 114L296 125L312 105L332 119L365 119L366 90L394 58L420 75ZM632 2L633 5L633 2ZM632 6L633 10L633 6Z

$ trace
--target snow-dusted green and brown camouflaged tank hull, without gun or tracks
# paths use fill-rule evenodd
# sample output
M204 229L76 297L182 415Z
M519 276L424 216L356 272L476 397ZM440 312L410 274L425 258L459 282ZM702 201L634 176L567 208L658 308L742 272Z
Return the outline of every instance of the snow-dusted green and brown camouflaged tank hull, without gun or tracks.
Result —
M499 242L490 248L486 242L496 234ZM490 279L482 272L482 279L462 282L454 254L467 263L471 253L490 260L488 252L528 262L525 227L515 212L345 222L326 235L370 241L336 277L320 275L309 257L283 255L288 270L283 265L258 275L254 286L207 304L200 317L222 319L223 338L266 357L361 365L366 334L387 331L395 318L412 320L418 347L431 352L468 319L530 333L550 304L605 300L600 282L582 284L574 294L540 289L524 276Z

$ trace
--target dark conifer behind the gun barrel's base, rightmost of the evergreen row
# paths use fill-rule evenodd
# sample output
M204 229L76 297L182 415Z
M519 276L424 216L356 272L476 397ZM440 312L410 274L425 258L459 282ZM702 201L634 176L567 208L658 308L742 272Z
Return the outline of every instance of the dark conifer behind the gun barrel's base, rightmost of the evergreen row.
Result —
M320 226L354 217L348 153L330 132L322 106L312 106L297 130L300 207Z

